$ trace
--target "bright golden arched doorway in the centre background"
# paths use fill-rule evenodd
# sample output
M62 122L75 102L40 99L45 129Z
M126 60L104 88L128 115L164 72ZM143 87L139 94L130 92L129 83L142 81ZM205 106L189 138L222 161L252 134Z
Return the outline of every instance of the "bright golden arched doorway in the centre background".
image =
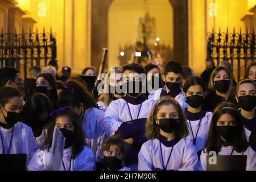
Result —
M146 24L144 30L142 24ZM158 49L163 62L174 58L174 13L168 0L114 0L108 13L109 68L132 59L135 43L143 42L143 32L153 58Z

